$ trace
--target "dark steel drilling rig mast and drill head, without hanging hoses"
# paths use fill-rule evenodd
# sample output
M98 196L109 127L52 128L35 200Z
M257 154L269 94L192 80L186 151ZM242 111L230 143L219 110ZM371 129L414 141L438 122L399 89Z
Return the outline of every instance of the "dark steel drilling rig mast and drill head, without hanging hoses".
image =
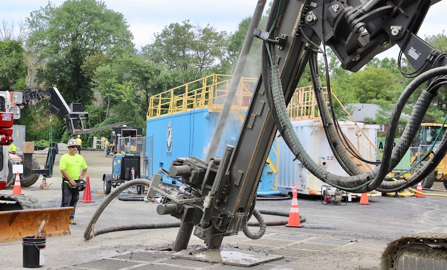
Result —
M418 72L445 66L447 59L416 36L429 7L438 1L275 0L271 28L257 29L255 36L265 41L265 55L270 55L269 50L274 55L270 61L275 70L267 74L278 78L287 105L311 55L322 52L321 43L330 46L342 67L351 71L358 71L395 44ZM182 221L175 251L187 247L194 227L195 236L209 248L218 248L223 237L242 231L253 213L262 168L277 131L277 112L268 106L268 88L275 85L265 81L265 74L258 80L235 146L227 145L221 158L188 157L173 162L169 176L187 188L174 197L166 195L158 212ZM282 135L281 129L279 132ZM148 198L155 192L167 194L156 181L159 178L157 174L153 177ZM378 178L381 183L383 178Z

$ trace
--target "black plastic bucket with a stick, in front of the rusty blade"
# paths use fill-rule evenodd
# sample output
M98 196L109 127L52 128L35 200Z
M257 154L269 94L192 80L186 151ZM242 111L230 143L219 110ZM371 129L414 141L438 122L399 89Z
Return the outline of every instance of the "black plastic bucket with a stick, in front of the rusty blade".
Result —
M45 242L47 238L40 236L22 237L23 245L23 267L24 268L39 268L45 264Z

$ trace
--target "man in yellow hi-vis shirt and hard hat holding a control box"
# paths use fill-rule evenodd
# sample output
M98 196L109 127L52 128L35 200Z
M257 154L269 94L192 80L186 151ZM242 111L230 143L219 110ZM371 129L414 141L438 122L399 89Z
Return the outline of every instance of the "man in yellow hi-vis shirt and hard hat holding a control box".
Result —
M82 155L78 155L78 142L76 139L68 140L68 153L59 160L59 169L62 174L62 204L61 207L73 206L69 224L76 224L75 211L79 200L79 190L76 185L84 180L87 174L87 163ZM82 169L82 172L81 172Z

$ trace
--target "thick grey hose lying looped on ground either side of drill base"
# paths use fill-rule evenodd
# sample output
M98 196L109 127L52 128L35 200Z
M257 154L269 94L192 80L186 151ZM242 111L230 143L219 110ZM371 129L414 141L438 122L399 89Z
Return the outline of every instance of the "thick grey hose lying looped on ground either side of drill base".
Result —
M149 180L147 179L134 179L131 181L127 181L124 184L118 186L115 190L113 190L107 197L104 198L104 200L99 204L96 211L93 213L93 215L90 218L89 224L86 227L86 230L84 232L84 238L86 240L91 239L95 235L100 235L103 233L108 232L115 232L115 231L125 231L125 230L140 230L140 229L162 229L162 228L174 228L179 227L180 222L164 222L164 223L153 223L153 224L131 224L131 225L121 225L121 226L112 226L108 228L102 228L98 230L94 230L94 225L96 224L96 221L98 220L101 213L104 211L105 207L115 198L117 197L121 192L125 191L126 189L137 186L137 185L146 185L149 186ZM119 198L118 198L119 199ZM122 201L143 201L144 198L141 198L140 196L131 196L126 199L126 197L122 197ZM135 200L134 200L135 199ZM267 210L254 210L253 214L258 219L257 222L248 222L245 226L244 233L247 235L247 237L256 237L252 239L259 239L262 235L264 235L266 231L266 226L280 226L287 224L287 220L278 220L278 221L264 221L261 213L270 214L270 215L279 215L279 216L285 216L284 212L276 212L276 211L267 211ZM286 215L288 216L288 214ZM304 222L306 218L304 216L300 216L300 222ZM260 230L258 232L252 232L249 230L248 226L260 226Z

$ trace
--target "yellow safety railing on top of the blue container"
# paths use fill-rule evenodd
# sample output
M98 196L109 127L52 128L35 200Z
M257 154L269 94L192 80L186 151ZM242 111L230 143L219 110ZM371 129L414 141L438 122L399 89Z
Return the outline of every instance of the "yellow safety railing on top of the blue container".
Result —
M149 100L147 119L191 109L219 110L225 102L231 78L231 75L211 74L154 95ZM248 108L257 80L250 77L240 79L233 103L236 108L232 109Z

